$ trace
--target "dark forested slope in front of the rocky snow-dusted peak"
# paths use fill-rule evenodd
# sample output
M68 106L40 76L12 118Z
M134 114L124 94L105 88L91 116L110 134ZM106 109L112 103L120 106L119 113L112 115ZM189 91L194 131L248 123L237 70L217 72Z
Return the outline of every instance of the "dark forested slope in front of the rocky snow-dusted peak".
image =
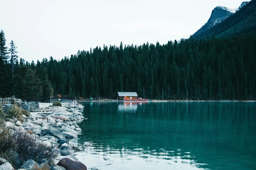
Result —
M227 37L242 33L254 32L256 29L256 0L250 1L226 20L214 25L210 29L201 27L192 35L193 38L207 38L207 36Z

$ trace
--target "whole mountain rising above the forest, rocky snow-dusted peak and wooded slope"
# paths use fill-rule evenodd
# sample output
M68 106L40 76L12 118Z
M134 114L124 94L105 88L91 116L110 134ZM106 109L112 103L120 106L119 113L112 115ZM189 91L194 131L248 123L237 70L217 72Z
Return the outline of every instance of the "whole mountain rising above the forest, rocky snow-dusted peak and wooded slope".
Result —
M243 2L240 7L233 9L221 6L215 7L207 23L192 35L192 37L227 36L250 30L255 26L255 21L253 21L254 16L255 0ZM223 32L225 34L221 34Z

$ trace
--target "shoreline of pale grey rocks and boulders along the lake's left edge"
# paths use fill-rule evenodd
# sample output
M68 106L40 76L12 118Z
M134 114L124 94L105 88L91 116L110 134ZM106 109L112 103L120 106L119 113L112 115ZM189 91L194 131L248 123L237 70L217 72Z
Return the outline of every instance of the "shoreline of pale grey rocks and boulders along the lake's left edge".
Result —
M82 105L76 103L61 103L62 106L48 106L30 113L29 117L22 115L22 121L16 118L3 123L10 133L23 133L35 138L45 148L51 148L57 156L54 163L38 164L33 160L27 160L20 165L19 170L86 170L86 166L74 156L74 150L69 144L69 139L77 138L81 129L76 121L84 119ZM90 143L85 143L90 146ZM0 170L13 170L12 165L0 158Z

